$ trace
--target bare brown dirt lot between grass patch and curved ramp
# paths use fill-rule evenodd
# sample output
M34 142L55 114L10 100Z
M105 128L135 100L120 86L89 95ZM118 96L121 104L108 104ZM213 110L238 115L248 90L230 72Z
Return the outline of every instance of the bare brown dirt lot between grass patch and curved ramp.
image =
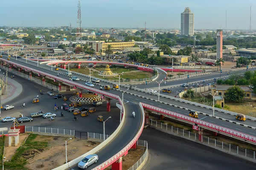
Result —
M68 138L60 136L37 136L36 141L48 142L49 149L37 156L28 159L25 165L29 170L51 170L66 162L65 158L65 140ZM88 152L99 145L99 142L89 142L87 140L72 139L67 144L67 158L71 161L78 156ZM80 149L83 148L83 149Z

